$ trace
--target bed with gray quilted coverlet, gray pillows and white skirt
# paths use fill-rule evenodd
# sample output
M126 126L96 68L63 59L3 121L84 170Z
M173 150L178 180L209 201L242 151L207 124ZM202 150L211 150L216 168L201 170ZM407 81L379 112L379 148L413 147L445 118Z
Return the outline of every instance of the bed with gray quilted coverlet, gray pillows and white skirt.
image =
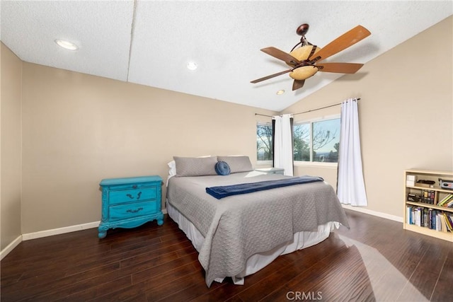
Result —
M199 253L207 286L225 277L243 284L279 255L320 243L340 224L349 227L324 181L217 199L207 188L291 177L255 171L247 156L173 158L166 209ZM228 173L215 168L219 162L227 163Z

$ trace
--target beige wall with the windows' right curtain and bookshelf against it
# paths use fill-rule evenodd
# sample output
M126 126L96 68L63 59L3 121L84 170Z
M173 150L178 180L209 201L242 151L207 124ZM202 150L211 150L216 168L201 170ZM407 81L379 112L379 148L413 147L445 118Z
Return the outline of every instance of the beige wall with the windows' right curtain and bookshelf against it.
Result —
M360 137L369 210L403 216L405 169L453 170L452 19L285 110L302 112L361 98ZM328 110L340 112L339 106ZM324 111L317 112L326 115ZM297 115L295 120L302 118ZM297 173L305 172L297 168Z

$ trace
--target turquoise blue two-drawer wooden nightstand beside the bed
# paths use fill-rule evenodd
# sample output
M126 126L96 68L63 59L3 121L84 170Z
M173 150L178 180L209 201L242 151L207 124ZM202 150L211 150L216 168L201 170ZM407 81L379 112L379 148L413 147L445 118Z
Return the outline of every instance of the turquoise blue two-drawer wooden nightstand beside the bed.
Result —
M104 238L109 228L135 228L147 221L157 220L161 226L162 178L108 178L99 184L102 188L102 219L98 237Z

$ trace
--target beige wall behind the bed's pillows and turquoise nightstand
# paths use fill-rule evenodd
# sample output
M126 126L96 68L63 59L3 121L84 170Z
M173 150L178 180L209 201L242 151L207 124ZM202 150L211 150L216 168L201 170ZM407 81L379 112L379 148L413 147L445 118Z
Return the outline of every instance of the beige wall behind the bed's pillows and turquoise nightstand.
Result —
M100 220L103 178L166 180L173 155L255 160L255 113L275 113L23 65L23 233Z

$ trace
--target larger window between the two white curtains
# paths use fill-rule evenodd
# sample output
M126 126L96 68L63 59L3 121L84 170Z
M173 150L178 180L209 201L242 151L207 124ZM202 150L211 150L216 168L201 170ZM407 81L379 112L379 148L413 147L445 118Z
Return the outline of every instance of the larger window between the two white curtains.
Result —
M338 163L340 118L294 124L294 161Z

